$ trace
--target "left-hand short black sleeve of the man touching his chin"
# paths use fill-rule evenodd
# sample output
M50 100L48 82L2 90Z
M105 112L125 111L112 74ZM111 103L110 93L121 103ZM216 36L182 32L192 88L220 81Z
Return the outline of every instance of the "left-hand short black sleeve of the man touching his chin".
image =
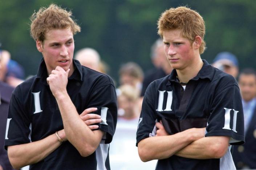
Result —
M17 92L17 88L15 89L15 92ZM17 93L12 94L9 105L5 134L5 149L7 149L7 146L9 145L19 145L31 141L29 139L29 134L31 133L29 128L30 120L16 94Z

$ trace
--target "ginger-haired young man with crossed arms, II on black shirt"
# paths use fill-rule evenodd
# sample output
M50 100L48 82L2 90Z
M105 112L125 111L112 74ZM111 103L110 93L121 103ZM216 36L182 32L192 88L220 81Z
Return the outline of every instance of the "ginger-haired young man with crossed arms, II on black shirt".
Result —
M156 169L235 169L229 144L244 143L243 108L235 79L202 60L204 20L187 7L170 8L158 34L174 69L146 90L137 131L142 161Z

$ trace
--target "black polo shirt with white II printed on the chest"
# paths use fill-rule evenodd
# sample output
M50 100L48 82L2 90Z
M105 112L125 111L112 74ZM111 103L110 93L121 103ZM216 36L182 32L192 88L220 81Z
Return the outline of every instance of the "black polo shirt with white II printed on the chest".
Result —
M232 145L244 143L244 118L239 87L226 73L204 64L186 85L177 81L174 69L169 76L155 80L146 90L137 131L137 144L155 135L155 122L162 120L172 135L188 128L206 127L205 136L230 136ZM224 158L190 159L179 156L159 160L156 169L217 170L232 169L228 149Z

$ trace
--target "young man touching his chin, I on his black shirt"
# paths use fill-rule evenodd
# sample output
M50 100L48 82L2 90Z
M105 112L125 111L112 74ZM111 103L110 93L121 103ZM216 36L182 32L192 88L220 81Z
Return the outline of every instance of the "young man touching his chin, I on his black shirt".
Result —
M31 17L43 59L37 75L17 86L11 98L5 148L15 169L110 169L115 87L109 76L73 59L73 35L80 27L71 17L54 4Z

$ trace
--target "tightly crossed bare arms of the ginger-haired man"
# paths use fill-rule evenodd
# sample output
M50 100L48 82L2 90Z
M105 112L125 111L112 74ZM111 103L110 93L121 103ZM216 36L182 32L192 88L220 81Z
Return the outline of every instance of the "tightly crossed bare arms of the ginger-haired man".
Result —
M191 128L169 135L162 122L157 122L156 127L156 136L138 143L139 157L143 162L166 159L172 155L194 159L221 158L228 149L228 136L204 137L205 128Z

